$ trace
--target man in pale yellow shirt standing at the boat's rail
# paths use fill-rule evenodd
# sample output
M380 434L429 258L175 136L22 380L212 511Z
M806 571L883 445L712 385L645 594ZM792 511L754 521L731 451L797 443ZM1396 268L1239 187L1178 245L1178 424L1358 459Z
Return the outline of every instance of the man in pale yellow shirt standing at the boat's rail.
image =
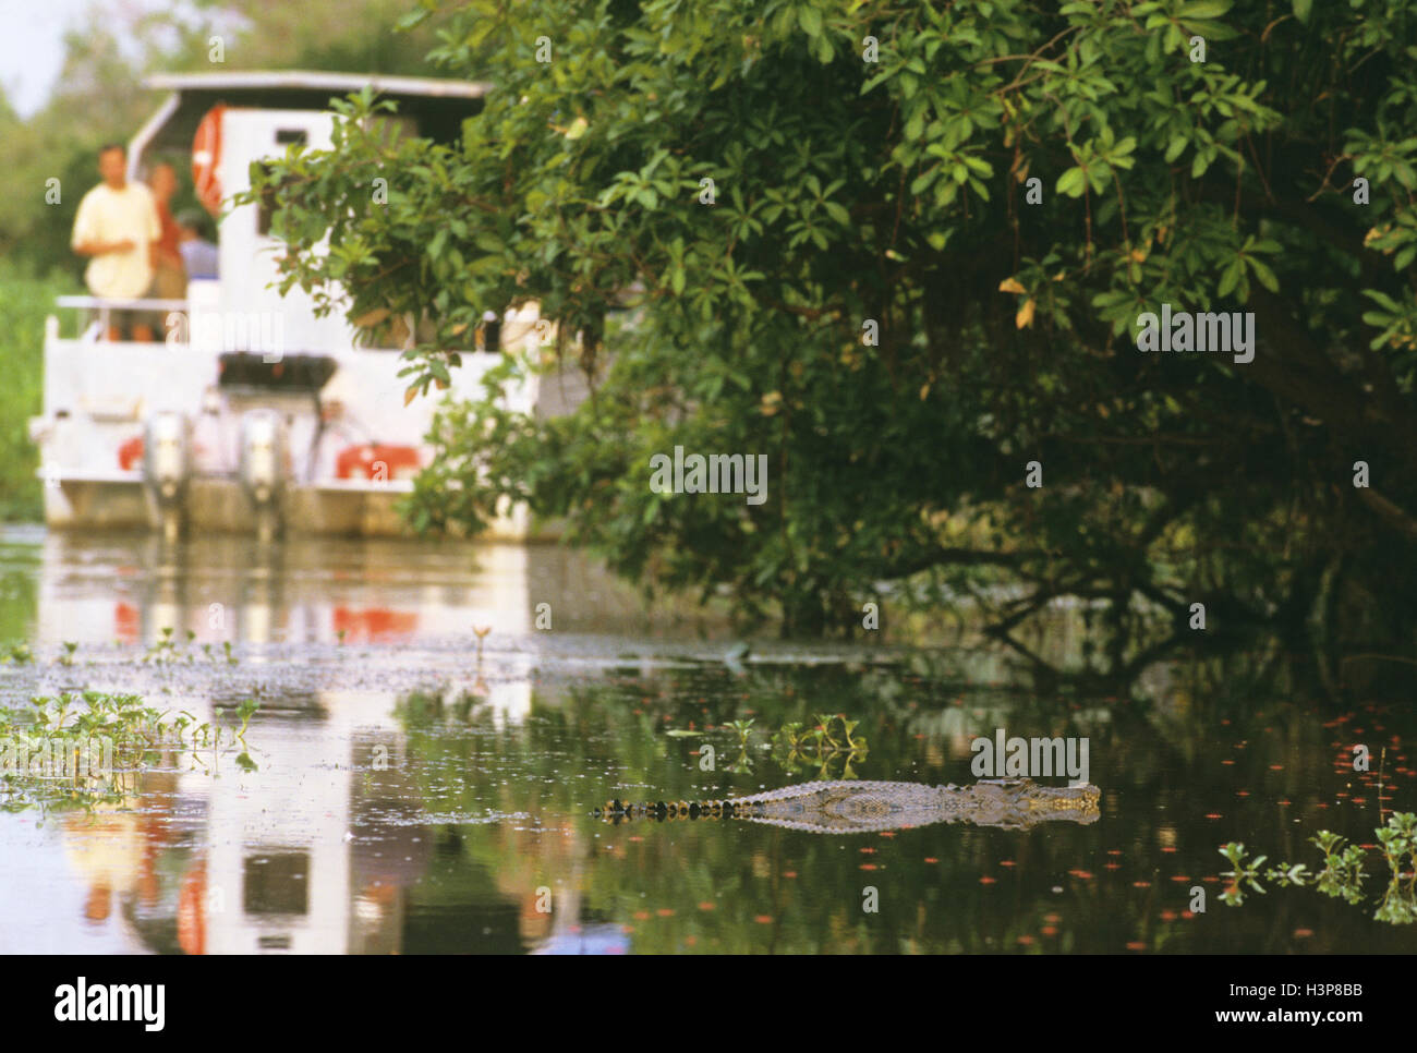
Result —
M71 244L81 257L92 257L84 281L95 296L136 299L153 283L162 225L153 196L142 183L128 181L128 154L118 143L99 147L98 171L103 181L84 194L74 217ZM109 312L106 337L150 343L153 329L136 310Z

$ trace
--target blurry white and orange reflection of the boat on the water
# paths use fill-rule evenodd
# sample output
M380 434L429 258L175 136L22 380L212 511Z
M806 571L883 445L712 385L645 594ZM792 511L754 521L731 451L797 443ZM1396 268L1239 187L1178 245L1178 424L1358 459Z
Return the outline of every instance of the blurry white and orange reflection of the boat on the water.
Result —
M113 659L116 673L103 663L98 673L82 662L41 666L40 690L122 680L137 648L177 641L197 660L174 665L176 693L201 721L244 697L244 683L224 683L235 673L312 655L346 668L367 653L377 665L407 645L448 652L434 673L441 687L466 697L479 719L514 726L530 713L546 639L534 628L538 602L568 624L587 597L611 622L635 609L606 604L611 587L597 571L550 547L262 546L241 536L166 544L51 531L40 550L35 646L77 641L79 658L128 656ZM495 631L486 665L472 651L483 628ZM112 651L115 639L126 651ZM227 643L242 655L231 673ZM230 755L214 771L169 757L176 770L142 774L122 806L65 815L52 836L85 889L82 924L116 934L129 952L628 950L622 934L578 924L574 876L550 897L529 872L486 874L473 901L439 899L458 825L486 819L431 811L398 700L393 689L283 685L261 697L248 731L259 771L238 770ZM203 764L213 767L210 757ZM580 835L565 832L561 872L574 874L582 852Z

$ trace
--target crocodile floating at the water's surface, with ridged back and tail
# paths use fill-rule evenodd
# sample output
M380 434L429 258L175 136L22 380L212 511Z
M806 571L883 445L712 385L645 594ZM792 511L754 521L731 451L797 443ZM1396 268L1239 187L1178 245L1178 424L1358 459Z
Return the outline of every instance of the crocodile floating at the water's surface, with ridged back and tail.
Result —
M869 833L942 822L1026 829L1051 819L1097 822L1100 795L1098 788L1090 784L1041 787L1030 779L981 779L968 787L836 781L802 782L724 801L609 801L592 815L615 823L629 819L747 819L813 833Z

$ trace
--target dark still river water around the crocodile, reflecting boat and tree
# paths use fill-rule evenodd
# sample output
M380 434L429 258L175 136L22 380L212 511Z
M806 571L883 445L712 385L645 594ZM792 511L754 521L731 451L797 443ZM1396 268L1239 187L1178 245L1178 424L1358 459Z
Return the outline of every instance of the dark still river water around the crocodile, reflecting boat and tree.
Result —
M1373 920L1376 853L1356 904L1272 882L1220 901L1227 840L1318 870L1316 830L1366 845L1417 811L1410 700L1321 703L1263 645L1093 696L999 649L726 660L726 626L550 547L13 529L0 642L20 641L35 660L0 665L0 704L96 689L205 721L251 697L258 770L173 758L123 805L0 812L0 952L1417 950ZM866 748L769 745L819 713ZM842 835L591 815L843 774L972 782L995 728L1087 737L1100 818Z

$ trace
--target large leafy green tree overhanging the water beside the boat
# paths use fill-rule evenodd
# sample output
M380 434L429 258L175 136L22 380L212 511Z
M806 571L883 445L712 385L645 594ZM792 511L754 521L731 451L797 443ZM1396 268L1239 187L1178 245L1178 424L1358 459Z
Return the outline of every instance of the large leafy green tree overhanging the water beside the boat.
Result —
M431 320L410 397L485 310L558 322L555 356L509 351L487 400L442 412L418 526L524 500L629 575L727 587L788 631L981 574L1027 587L1003 628L1064 594L1119 626L1135 597L1178 626L1200 601L1292 628L1345 594L1389 632L1417 619L1406 3L444 14L431 58L493 85L459 146L385 146L366 96L333 150L262 177L289 179L292 245L332 237L288 285ZM1163 305L1253 312L1253 361L1139 351ZM594 397L500 407L546 357ZM767 502L656 493L676 445L767 455Z

